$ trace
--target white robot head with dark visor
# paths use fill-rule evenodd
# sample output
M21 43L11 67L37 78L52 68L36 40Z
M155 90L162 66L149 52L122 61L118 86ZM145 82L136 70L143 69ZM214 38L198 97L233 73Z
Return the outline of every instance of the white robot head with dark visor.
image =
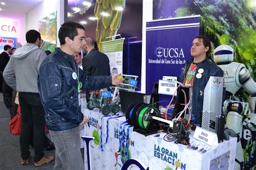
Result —
M214 49L212 60L217 65L226 65L231 63L235 58L235 52L231 46L220 45Z

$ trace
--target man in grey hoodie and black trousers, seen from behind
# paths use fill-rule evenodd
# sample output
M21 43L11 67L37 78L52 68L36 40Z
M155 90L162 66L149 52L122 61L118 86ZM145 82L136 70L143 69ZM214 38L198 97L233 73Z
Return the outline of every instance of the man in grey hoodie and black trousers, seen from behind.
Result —
M16 49L6 65L3 73L4 80L14 90L19 91L19 104L22 114L22 130L19 138L21 145L21 163L29 164L30 138L33 132L35 166L48 164L53 157L45 157L44 143L44 108L37 87L37 73L42 61L47 58L43 49L41 34L36 30L26 32L26 43Z

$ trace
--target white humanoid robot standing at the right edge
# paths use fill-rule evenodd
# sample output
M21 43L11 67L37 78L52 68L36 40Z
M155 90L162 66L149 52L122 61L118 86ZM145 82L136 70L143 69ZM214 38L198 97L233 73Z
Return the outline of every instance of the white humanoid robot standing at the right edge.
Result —
M250 77L250 72L245 65L238 62L233 62L235 52L228 45L220 45L215 48L212 59L224 72L224 83L228 96L224 102L223 111L227 114L226 127L235 131L241 138L242 125L246 126L250 131L256 129L256 114L255 114L255 98L256 98L256 83ZM239 101L233 101L231 97L242 87L250 94L249 106L251 114L242 122L242 104ZM235 169L240 169L244 165L244 154L242 152L241 141L237 143Z

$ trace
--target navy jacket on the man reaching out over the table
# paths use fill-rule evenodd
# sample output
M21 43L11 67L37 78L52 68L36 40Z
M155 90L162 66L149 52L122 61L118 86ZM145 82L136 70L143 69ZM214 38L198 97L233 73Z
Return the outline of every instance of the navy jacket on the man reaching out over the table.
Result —
M86 76L73 59L60 48L46 58L38 73L38 89L49 130L72 129L83 121L78 102L78 79L82 90L96 90L112 85L111 76Z

